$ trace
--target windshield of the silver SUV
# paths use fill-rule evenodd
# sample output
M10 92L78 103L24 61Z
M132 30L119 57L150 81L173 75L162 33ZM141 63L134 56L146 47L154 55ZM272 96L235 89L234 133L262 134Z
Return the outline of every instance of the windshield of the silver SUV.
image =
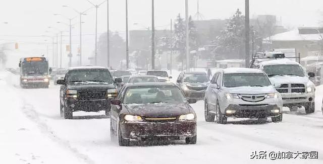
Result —
M224 87L264 87L271 83L264 73L226 73L223 78Z

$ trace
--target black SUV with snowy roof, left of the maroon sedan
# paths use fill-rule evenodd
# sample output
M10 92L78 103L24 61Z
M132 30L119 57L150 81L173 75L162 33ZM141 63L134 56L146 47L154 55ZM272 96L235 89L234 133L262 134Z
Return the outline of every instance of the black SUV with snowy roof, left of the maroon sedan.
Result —
M116 81L121 79L116 78ZM104 67L70 68L64 79L57 80L57 84L61 85L61 117L72 119L75 111L104 110L105 115L109 115L110 101L118 95L116 81Z

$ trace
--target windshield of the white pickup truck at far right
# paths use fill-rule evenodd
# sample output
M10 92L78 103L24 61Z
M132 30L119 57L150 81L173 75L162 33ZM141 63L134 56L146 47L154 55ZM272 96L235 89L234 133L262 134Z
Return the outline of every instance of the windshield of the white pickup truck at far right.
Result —
M266 72L269 77L275 75L305 76L303 68L297 64L265 65L263 66L263 71Z

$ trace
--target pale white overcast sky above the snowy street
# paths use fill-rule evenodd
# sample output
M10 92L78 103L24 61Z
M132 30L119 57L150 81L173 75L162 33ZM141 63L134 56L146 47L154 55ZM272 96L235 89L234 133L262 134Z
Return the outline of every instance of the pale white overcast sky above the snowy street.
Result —
M103 0L90 0L94 4L100 4ZM170 28L170 19L175 19L178 13L184 15L184 0L155 0L155 26L157 29ZM244 12L244 0L199 0L200 13L204 19L226 19L239 8ZM66 25L56 22L66 22L63 17L53 14L63 14L67 17L75 17L78 11L84 11L91 7L86 0L1 0L0 1L0 42L35 40L48 42L50 39L31 38L29 35L53 35L56 30L48 29L53 26L61 30L68 30ZM189 0L189 14L195 15L197 0ZM145 29L151 26L151 1L129 0L129 29ZM323 7L322 0L250 0L250 17L254 15L271 14L282 17L283 25L288 28L298 26L315 26L319 20L323 20L319 9ZM94 33L95 10L91 9L83 17L84 34ZM77 24L73 28L73 34L79 33L79 18L73 20ZM134 25L137 24L137 25ZM125 33L125 0L110 0L110 28L112 31ZM51 31L46 33L45 31ZM98 33L106 31L106 3L98 9ZM28 35L28 37L4 37L4 35ZM67 34L66 34L67 35ZM78 44L77 37L73 38L73 44ZM66 40L67 41L67 40ZM84 44L88 53L93 50L94 36L86 36ZM75 46L74 46L75 47Z

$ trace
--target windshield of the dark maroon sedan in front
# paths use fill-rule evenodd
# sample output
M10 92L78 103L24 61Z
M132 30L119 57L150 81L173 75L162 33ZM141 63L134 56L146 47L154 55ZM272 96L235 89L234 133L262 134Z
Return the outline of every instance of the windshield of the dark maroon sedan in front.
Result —
M124 97L124 104L147 103L184 103L186 99L178 87L150 86L129 88Z

